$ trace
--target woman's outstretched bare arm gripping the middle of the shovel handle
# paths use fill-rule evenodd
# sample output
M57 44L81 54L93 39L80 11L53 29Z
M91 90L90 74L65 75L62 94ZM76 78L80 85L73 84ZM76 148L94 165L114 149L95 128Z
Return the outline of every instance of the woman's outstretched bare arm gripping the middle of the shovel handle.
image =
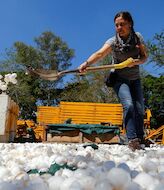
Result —
M104 58L105 56L107 56L109 53L111 53L112 48L109 44L105 43L102 48L100 48L98 51L96 51L95 53L93 53L88 59L87 61L85 61L84 63L82 63L79 66L79 71L80 72L84 72L85 69L90 66L91 64L96 63L98 60Z

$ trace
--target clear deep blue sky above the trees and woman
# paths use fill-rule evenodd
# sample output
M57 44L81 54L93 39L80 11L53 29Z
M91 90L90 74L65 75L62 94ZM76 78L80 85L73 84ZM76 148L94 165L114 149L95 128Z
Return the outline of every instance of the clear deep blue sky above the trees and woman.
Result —
M115 34L117 12L129 11L147 41L164 29L163 8L164 0L0 0L0 54L15 41L33 45L35 37L52 31L75 50L76 68Z

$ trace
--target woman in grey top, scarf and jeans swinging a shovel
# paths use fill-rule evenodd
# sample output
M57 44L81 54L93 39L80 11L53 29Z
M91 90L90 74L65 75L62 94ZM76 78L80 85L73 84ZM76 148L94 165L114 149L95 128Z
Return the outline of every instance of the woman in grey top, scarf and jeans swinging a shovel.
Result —
M109 38L102 48L82 63L79 71L84 72L88 66L108 54L112 55L114 64L125 61L129 57L134 59L127 68L115 70L112 74L114 75L112 87L123 106L128 146L134 151L141 148L140 144L144 137L144 103L139 65L146 61L147 53L141 34L134 31L133 19L129 12L117 13L114 23L116 35Z

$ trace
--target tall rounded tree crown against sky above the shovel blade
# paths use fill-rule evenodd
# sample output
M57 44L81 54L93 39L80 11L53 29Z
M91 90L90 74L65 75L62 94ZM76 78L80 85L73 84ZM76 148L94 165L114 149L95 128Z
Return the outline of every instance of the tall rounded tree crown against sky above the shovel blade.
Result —
M46 69L60 71L71 65L70 60L74 56L74 51L69 49L60 37L51 32L44 32L39 38L35 38L35 42L41 59L40 63L43 63Z

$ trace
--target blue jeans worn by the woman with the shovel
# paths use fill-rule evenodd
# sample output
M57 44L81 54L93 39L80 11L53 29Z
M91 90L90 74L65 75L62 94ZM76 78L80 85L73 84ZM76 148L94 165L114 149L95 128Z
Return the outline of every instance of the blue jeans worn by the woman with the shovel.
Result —
M128 139L144 136L144 102L140 79L119 79L114 90L123 106L123 121Z

